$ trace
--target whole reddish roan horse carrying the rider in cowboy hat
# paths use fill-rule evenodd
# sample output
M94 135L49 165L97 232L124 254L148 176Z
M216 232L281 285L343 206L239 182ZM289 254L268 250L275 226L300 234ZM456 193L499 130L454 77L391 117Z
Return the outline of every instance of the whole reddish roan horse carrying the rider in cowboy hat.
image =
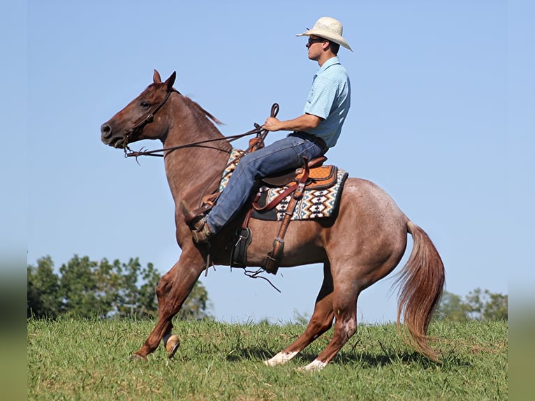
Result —
M217 191L233 147L217 128L219 120L180 94L173 87L175 79L173 72L162 82L159 72L154 70L153 82L101 126L102 142L125 153L135 141L161 140L167 180L175 201L176 240L182 252L156 286L158 320L145 343L131 356L138 360L145 360L162 342L168 358L173 358L179 345L172 331L173 316L207 263L228 265L233 235L247 212L244 210L211 238L210 247L193 242L181 205L200 205L205 194ZM247 250L250 267L262 266L279 225L277 221L250 219L254 233ZM397 330L418 353L439 363L439 353L430 347L431 337L427 335L444 289L445 271L439 252L427 233L406 217L386 191L368 180L349 177L334 216L292 221L288 226L281 268L323 263L323 282L304 333L265 360L265 364L287 363L332 328L334 322L332 340L302 368L323 369L357 331L360 293L400 263L408 233L413 238L412 251L395 280L399 287Z

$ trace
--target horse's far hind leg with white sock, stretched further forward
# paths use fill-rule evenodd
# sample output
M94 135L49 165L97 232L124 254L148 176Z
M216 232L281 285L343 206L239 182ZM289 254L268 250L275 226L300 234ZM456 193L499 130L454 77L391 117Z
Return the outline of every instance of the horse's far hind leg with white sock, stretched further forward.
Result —
M266 360L265 364L268 366L281 365L291 360L300 351L305 349L316 338L329 330L332 326L332 319L335 314L332 309L332 275L330 272L330 264L326 262L323 265L323 284L316 298L316 305L314 313L310 318L307 330L302 333L298 340L293 342L289 347L280 351L273 358Z

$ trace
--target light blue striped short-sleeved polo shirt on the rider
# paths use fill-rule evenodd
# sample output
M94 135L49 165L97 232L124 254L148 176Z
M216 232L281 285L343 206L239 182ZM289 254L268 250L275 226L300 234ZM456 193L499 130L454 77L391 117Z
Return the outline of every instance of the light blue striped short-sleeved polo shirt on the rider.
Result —
M350 98L351 85L346 68L340 64L337 56L332 57L325 61L312 81L305 113L321 117L322 120L307 133L323 139L328 147L335 146L351 105Z

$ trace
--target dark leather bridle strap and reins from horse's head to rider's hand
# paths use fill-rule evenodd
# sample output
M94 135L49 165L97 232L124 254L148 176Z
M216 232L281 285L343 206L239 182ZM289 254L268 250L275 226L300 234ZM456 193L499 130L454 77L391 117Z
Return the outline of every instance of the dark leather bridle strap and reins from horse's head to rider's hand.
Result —
M249 136L249 135L256 134L256 136L258 137L258 141L255 143L255 145L249 146L249 149L247 149L247 151L244 152L244 154L245 154L245 153L249 152L253 146L258 146L257 145L258 143L263 143L263 140L268 135L269 131L267 131L265 129L262 129L259 124L255 123L254 124L254 126L255 126L254 129L251 129L251 131L247 131L246 133L240 133L240 134L237 134L237 135L223 136L221 138L212 138L212 139L206 139L206 140L199 140L197 142L186 143L184 145L177 145L177 146L173 146L173 147L163 147L162 149L156 149L156 150L139 150L137 152L131 150L130 147L128 146L128 144L129 144L129 136L131 136L133 133L138 133L138 132L142 131L143 128L147 124L152 123L154 121L154 115L156 115L156 112L158 112L158 110L160 110L163 107L163 105L166 104L166 102L169 99L170 94L172 94L173 92L177 92L177 94L180 94L180 92L178 92L176 89L168 90L168 92L166 94L166 97L163 99L163 101L161 101L159 103L159 105L157 105L156 108L154 108L154 110L149 112L149 115L147 115L147 117L145 117L145 119L143 119L140 123L138 123L135 126L133 126L131 129L128 129L128 130L126 130L124 132L123 138L124 138L124 156L125 157L135 157L135 159L138 159L139 156L165 157L167 154L169 154L170 152L173 152L175 150L184 149L184 148L187 148L187 147L196 147L196 146L204 145L205 143L216 142L218 140L228 140L228 142L232 142L233 140L237 140L239 138L243 138L244 136ZM271 117L277 117L277 113L278 112L279 112L279 105L277 103L273 103L273 105L271 106Z

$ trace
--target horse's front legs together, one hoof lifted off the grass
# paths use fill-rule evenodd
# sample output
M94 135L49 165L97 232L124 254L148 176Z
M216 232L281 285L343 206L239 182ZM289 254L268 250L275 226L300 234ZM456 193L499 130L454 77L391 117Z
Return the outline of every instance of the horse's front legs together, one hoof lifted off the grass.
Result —
M172 343L166 348L168 348L169 356L173 356L172 354L178 346L178 337L171 335L171 328L173 328L171 320L178 313L186 298L188 298L203 268L203 257L197 249L192 248L189 251L184 249L182 251L177 263L162 277L158 284L156 291L158 296L158 322L156 327L145 340L145 344L133 353L132 359L147 358L149 353L158 348L164 337L166 342Z

